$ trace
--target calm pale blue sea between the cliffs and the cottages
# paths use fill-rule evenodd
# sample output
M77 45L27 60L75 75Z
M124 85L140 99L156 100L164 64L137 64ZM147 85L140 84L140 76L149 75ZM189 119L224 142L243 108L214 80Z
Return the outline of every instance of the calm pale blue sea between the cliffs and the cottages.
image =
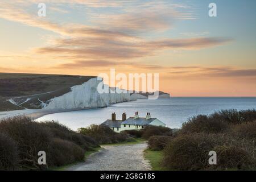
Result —
M100 124L111 119L115 112L117 119L122 118L126 112L127 118L133 116L135 111L140 117L158 118L168 127L178 128L188 118L197 114L210 114L222 109L256 109L256 97L172 97L170 99L137 100L123 102L101 109L88 109L66 113L48 114L38 121L59 121L73 130L86 127L90 124Z

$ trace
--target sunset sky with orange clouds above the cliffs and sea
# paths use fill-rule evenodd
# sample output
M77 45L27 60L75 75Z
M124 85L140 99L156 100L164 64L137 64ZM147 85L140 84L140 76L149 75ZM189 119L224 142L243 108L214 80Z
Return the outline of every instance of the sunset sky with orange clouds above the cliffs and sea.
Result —
M159 89L171 96L255 97L255 8L255 0L2 0L0 72L97 76L114 68L159 73Z

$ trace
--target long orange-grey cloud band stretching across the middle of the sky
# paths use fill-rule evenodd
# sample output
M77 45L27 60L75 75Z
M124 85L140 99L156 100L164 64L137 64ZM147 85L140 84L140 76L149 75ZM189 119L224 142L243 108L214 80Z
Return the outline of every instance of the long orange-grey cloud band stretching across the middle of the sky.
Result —
M193 39L165 39L152 42L127 42L125 39L111 38L76 38L58 40L57 44L35 49L36 53L55 55L72 55L80 59L81 56L90 59L127 60L136 57L154 55L156 51L164 49L200 49L219 46L227 43L226 38L193 38ZM135 39L135 38L134 38Z

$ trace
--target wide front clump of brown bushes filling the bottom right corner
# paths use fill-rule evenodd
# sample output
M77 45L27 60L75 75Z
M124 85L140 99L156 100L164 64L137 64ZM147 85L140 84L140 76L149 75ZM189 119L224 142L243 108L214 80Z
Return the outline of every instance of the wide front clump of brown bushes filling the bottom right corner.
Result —
M209 151L216 151L217 165L209 165ZM245 140L224 134L188 134L168 142L163 164L170 169L253 169L255 147Z

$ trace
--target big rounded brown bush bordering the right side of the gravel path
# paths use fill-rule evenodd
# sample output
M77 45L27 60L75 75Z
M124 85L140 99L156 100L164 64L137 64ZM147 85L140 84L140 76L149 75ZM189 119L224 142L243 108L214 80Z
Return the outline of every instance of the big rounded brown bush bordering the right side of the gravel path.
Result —
M164 148L163 165L178 170L204 169L213 148L212 139L205 134L180 135Z

